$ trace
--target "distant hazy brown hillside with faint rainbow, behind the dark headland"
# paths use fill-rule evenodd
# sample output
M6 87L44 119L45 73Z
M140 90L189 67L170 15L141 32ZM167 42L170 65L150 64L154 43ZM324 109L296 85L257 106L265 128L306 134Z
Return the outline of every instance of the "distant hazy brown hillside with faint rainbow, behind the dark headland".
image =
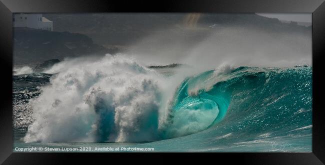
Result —
M78 32L103 46L127 46L156 31L167 30L173 35L188 34L184 27L199 28L195 35L204 35L211 25L246 26L270 32L299 32L310 34L311 28L285 23L254 13L180 14L180 13L93 13L44 14L53 21L55 31ZM202 30L205 28L205 30ZM168 32L169 33L169 32ZM181 34L182 33L182 34ZM191 35L189 33L189 35Z

